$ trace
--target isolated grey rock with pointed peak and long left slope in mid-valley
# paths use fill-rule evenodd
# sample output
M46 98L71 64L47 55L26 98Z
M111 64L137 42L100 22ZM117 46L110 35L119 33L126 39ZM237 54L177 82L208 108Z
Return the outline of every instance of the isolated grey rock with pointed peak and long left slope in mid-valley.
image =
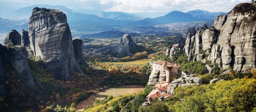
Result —
M101 52L109 52L111 53L118 53L118 55L124 55L124 56L132 56L132 53L130 52L131 49L135 49L136 44L132 41L132 37L128 34L125 34L119 44L116 45L110 45L104 48L100 48L98 50L95 50L95 53L101 53Z

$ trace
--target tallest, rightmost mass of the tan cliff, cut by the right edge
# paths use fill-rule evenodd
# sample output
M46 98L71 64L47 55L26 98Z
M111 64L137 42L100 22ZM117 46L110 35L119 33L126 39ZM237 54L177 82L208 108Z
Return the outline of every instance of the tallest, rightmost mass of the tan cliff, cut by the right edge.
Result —
M217 41L219 50L212 50L210 59L221 56L223 69L246 72L255 68L256 61L256 7L251 3L236 5L226 16L215 19L214 26L220 30ZM214 54L214 55L212 55ZM215 58L216 60L216 58Z

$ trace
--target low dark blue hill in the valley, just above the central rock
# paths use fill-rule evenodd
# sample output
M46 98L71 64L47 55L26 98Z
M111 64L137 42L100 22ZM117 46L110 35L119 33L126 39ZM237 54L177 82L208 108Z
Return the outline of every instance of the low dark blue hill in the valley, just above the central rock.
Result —
M138 36L138 34L134 34L134 33L124 33L120 31L106 31L106 32L100 32L97 34L83 35L80 38L120 38L124 34L129 34L132 37Z

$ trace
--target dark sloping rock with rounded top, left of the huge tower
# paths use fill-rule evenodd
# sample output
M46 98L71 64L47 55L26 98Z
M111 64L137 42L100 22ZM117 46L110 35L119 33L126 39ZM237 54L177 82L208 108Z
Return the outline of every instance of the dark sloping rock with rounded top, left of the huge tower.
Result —
M21 44L21 36L16 30L12 30L6 39L6 47L8 49L7 56L12 63L16 73L27 86L35 85L33 77L30 73L30 67L28 66L28 52Z

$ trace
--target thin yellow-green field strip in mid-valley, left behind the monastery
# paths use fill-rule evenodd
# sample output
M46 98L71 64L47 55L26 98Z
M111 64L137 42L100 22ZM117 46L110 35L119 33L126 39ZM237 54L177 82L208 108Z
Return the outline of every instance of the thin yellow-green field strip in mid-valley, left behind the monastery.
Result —
M107 64L114 64L114 65L142 65L147 64L150 59L141 59L135 61L128 61L128 62L104 62Z

